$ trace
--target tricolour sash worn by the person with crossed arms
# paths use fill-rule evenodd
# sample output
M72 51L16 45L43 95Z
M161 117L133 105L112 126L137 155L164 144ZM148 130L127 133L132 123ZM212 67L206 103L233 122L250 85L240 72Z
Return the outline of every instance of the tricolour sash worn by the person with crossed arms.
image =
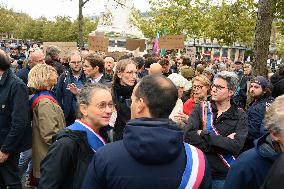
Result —
M212 106L211 106L210 101L202 103L202 112L203 112L202 116L204 116L203 119L204 118L206 119L205 120L206 130L209 131L210 133L220 135L220 133L214 127L214 124L213 124L214 116L213 116L213 111L212 111ZM223 161L223 163L229 168L231 167L232 163L236 160L235 157L232 155L221 155L221 154L218 154L218 155Z

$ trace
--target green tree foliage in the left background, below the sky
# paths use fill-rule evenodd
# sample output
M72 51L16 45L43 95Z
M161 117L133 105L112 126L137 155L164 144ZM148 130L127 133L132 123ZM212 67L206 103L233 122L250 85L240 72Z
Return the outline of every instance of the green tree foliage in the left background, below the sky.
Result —
M0 7L0 33L13 34L18 39L36 41L78 41L78 20L67 16L57 16L54 21L45 17L33 19L27 14L16 13L6 7ZM84 40L96 30L98 20L84 19Z

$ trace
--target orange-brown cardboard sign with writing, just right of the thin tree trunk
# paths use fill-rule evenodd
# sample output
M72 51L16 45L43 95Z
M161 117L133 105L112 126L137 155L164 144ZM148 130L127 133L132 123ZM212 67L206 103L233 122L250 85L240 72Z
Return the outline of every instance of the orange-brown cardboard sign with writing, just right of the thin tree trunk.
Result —
M89 50L108 52L109 39L104 36L89 36Z

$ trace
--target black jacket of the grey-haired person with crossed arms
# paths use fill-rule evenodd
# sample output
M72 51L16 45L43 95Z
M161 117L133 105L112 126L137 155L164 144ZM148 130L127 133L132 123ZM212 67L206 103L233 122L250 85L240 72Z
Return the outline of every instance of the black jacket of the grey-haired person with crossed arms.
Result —
M224 112L217 118L217 108L213 104L213 124L220 135L213 133L201 132L197 134L198 130L202 130L202 110L201 105L198 104L193 109L188 123L185 128L185 142L188 142L197 148L201 149L210 164L212 177L214 179L225 179L228 173L228 167L222 162L218 154L221 155L238 155L243 148L247 137L247 115L242 110L239 110L234 104L231 108ZM236 133L234 139L227 136Z

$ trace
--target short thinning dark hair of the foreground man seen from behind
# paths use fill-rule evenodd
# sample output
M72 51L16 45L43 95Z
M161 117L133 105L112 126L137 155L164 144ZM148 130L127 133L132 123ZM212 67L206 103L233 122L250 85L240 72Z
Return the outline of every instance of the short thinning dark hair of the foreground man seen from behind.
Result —
M153 118L168 118L176 105L178 90L170 79L148 75L138 83L135 96L145 101Z

